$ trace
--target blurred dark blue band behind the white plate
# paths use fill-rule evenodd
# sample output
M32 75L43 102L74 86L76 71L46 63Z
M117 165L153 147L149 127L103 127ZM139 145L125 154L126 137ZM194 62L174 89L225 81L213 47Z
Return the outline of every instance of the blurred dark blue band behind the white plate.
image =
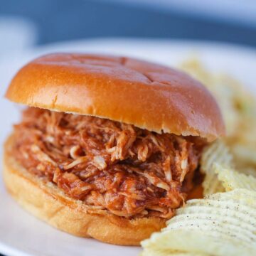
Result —
M0 15L26 16L39 29L38 43L132 36L189 38L256 46L256 28L125 4L85 0L1 0Z

